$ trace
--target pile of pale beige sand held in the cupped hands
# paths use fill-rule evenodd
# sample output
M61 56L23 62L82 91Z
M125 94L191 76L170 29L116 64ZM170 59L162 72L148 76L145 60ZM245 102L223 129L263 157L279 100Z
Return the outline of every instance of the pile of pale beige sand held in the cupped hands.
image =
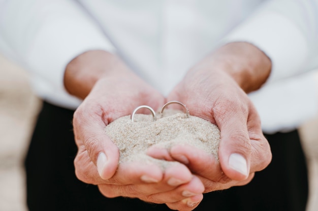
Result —
M169 149L175 144L195 146L218 159L220 133L217 126L176 110L167 109L165 115L157 115L156 121L152 115L136 114L134 122L130 116L123 116L108 124L105 133L120 150L119 163L141 161L165 168L171 161L154 159L146 155L146 150L152 145Z

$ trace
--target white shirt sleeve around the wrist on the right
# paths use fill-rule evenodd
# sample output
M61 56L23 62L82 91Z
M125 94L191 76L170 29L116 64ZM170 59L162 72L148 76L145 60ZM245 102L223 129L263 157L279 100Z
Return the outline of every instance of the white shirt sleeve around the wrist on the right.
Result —
M318 1L271 0L222 41L247 41L261 49L272 61L268 81L273 81L318 66L317 37Z

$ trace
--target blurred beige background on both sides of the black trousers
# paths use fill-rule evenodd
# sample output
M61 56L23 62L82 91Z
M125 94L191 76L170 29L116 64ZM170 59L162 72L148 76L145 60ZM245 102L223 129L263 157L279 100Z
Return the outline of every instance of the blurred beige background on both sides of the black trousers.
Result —
M27 73L0 55L0 210L25 211L23 158L41 101ZM300 129L309 166L307 211L318 210L318 116Z

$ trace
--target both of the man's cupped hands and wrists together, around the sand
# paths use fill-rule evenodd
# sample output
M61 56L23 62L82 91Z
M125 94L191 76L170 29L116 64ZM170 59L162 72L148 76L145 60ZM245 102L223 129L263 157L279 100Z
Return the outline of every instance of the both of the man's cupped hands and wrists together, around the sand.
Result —
M165 99L114 55L90 51L78 56L65 71L68 92L84 99L73 120L77 177L98 185L107 197L138 197L177 210L193 210L202 193L247 184L271 160L260 118L246 95L262 86L270 69L269 58L256 47L228 44L190 69ZM167 151L154 146L149 155L180 163L165 172L138 163L118 166L119 151L105 135L105 126L139 105L156 110L171 100L185 103L192 115L218 125L219 162L193 147ZM243 168L233 167L237 155Z

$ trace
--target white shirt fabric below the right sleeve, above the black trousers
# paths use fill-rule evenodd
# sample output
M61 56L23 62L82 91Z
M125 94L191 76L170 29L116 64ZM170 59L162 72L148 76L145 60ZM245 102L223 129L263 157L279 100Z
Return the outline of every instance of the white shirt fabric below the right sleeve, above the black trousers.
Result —
M313 119L318 108L318 69L267 83L249 94L265 133L288 132Z

